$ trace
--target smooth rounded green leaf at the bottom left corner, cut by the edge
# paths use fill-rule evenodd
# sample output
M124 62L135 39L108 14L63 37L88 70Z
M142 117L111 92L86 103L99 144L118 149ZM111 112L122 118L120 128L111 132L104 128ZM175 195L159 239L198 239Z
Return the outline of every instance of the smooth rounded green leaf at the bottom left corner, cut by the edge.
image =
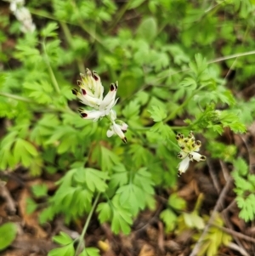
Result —
M17 234L17 225L8 222L0 226L0 251L14 242Z

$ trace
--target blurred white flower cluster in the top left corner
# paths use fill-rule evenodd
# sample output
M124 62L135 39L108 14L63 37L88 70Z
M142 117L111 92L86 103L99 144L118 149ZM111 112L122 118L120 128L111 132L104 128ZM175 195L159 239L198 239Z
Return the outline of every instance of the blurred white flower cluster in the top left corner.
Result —
M31 13L24 7L25 0L9 0L9 2L9 9L15 15L16 19L20 21L20 30L24 33L35 31L36 26L31 18Z

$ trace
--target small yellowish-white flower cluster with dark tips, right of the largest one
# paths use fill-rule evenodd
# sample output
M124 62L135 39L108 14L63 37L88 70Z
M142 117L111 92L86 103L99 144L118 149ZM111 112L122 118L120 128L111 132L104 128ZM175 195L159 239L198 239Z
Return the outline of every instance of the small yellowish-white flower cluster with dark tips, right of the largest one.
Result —
M192 132L190 132L188 137L184 137L184 134L177 134L176 139L181 149L178 153L178 158L182 159L182 162L178 164L178 177L180 177L189 168L190 161L205 161L207 157L198 153L201 147L201 141L195 141L195 137Z

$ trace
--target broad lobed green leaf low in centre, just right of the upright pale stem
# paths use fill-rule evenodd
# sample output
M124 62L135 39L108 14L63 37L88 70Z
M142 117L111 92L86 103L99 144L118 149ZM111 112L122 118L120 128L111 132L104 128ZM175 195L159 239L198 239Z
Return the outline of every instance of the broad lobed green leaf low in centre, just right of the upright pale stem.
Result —
M154 182L146 168L127 172L126 168L119 164L113 170L109 190L106 191L108 202L100 202L97 212L100 223L111 221L113 232L117 234L122 230L124 234L128 234L133 223L132 217L145 206L155 208ZM112 191L116 191L116 195L112 196Z

